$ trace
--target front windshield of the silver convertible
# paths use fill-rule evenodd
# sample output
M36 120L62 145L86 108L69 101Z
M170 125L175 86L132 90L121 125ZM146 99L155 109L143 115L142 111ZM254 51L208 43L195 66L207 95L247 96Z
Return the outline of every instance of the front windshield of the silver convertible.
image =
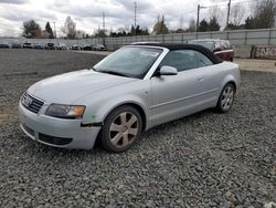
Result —
M125 46L100 61L94 66L94 70L103 73L142 79L161 52L161 49Z

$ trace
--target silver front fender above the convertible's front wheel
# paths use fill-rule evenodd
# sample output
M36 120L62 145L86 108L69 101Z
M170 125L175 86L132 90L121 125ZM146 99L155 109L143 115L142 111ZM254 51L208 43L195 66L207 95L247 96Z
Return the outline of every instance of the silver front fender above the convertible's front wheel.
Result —
M146 82L146 83L145 83ZM83 116L83 124L103 124L106 116L114 111L116 107L125 104L134 104L139 106L145 114L146 125L150 112L150 83L148 81L142 82L142 84L137 83L131 86L125 87L114 87L113 90L100 91L88 97L79 100L75 104L85 104L86 110Z

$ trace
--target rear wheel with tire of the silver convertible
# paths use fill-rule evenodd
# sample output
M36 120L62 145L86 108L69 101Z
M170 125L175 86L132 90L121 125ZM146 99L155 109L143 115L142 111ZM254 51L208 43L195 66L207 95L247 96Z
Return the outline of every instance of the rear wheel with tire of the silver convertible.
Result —
M233 105L234 97L235 86L232 83L227 83L221 92L215 110L219 113L227 113Z

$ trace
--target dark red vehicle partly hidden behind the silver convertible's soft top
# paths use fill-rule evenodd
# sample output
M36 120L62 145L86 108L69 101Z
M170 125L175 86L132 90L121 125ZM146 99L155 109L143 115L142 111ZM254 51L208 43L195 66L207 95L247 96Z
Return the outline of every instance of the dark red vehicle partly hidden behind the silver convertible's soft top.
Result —
M190 44L199 44L211 50L216 56L223 61L232 61L234 59L234 50L227 40L220 39L202 39L189 41Z

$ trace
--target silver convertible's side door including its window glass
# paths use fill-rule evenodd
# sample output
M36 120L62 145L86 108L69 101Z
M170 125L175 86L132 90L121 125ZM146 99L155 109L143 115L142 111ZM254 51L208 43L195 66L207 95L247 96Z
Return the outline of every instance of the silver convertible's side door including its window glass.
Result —
M163 65L173 66L179 73L151 77L150 112L152 125L166 123L211 106L206 94L215 89L215 84L208 84L212 76L213 63L206 56L193 50L171 51L160 63L159 69Z

